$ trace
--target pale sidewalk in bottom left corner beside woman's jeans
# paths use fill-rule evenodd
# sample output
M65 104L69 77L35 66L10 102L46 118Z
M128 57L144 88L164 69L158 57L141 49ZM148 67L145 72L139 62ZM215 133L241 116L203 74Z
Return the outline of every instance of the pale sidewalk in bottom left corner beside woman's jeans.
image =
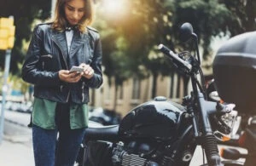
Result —
M0 165L33 166L32 141L4 137L0 145Z

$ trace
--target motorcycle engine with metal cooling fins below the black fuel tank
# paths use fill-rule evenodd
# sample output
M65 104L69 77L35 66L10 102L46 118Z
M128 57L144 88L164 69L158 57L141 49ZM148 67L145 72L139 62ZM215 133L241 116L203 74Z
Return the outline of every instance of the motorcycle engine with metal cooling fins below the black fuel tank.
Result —
M159 166L160 164L148 160L146 156L152 147L145 143L130 142L127 147L119 141L113 148L112 162L114 166Z

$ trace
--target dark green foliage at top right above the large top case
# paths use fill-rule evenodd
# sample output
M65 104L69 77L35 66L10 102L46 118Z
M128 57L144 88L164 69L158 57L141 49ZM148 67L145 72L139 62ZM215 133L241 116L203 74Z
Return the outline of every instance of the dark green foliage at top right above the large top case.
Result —
M253 0L176 0L176 31L183 22L190 22L199 37L206 58L212 54L212 37L235 36L255 30L256 1Z

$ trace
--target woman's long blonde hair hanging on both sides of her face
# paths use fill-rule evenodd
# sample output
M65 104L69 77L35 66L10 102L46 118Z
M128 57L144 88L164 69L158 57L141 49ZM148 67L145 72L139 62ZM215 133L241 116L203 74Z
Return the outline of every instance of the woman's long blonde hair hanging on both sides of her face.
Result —
M57 0L55 7L55 17L53 20L52 28L56 31L64 31L67 26L66 15L64 11L64 5L72 0ZM84 16L79 21L78 29L80 32L84 33L86 31L86 26L90 26L93 21L94 11L93 4L91 0L84 0Z

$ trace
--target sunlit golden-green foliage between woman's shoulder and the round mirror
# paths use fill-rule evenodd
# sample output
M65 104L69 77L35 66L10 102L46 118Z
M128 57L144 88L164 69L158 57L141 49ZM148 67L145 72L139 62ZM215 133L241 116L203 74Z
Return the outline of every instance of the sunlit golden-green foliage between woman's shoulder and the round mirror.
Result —
M172 26L172 5L166 3L170 1L125 2L126 14L123 14L122 18L113 18L102 10L98 13L101 20L96 20L96 26L102 34L105 74L115 77L116 83L122 83L134 74L146 77L149 72L160 73L162 57L150 60L148 54L156 44L162 41L168 43L165 34ZM104 3L100 3L99 9L104 8L103 5ZM110 29L114 31L109 32ZM147 70L143 66L146 66Z

